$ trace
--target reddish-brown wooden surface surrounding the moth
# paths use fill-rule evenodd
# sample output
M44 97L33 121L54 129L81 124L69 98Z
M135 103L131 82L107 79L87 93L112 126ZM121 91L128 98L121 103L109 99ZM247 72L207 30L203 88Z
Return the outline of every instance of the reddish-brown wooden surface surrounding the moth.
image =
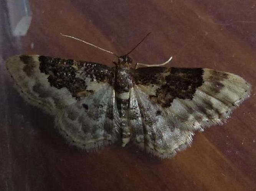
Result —
M5 0L1 0L6 10ZM256 190L255 0L30 0L25 37L10 36L1 13L0 190ZM173 159L120 142L97 153L69 146L53 117L19 96L4 60L40 54L112 65L113 55L60 36L69 34L122 55L145 34L135 62L202 67L238 74L251 97L223 126L197 132Z

